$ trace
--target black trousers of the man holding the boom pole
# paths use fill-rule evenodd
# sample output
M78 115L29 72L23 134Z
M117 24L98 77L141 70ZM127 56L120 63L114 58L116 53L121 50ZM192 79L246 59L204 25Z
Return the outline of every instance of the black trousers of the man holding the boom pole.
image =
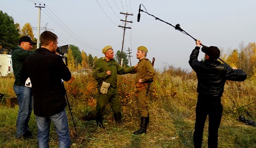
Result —
M215 101L216 100L216 101ZM208 147L217 147L218 130L221 123L223 106L219 98L207 98L198 96L197 107L195 108L195 129L194 129L194 147L201 147L202 135L204 133L205 121L209 116L208 127Z

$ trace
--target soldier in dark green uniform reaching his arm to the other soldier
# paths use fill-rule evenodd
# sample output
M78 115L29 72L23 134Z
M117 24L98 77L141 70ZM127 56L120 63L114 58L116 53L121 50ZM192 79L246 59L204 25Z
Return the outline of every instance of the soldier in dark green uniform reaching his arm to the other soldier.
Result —
M97 59L93 67L93 78L98 83L99 92L96 96L96 123L103 127L103 118L105 108L109 103L114 112L115 121L121 122L121 101L119 99L117 87L117 74L132 73L134 66L123 68L114 59L114 50L112 46L106 46L102 49L105 57Z

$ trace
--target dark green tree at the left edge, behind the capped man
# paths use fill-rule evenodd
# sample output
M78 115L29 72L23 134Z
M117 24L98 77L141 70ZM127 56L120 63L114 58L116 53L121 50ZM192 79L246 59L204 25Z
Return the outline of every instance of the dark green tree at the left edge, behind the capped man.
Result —
M11 16L0 11L0 45L3 49L10 50L18 44L19 24L14 24Z

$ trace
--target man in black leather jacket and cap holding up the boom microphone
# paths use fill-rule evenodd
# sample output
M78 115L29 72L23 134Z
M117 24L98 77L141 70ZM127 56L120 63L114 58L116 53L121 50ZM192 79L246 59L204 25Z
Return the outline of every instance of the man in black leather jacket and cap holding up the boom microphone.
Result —
M221 123L223 106L221 97L226 80L244 81L246 73L242 70L221 64L217 59L220 50L216 46L203 46L205 61L198 61L201 41L196 41L195 49L190 54L189 64L197 73L198 101L195 109L194 147L201 147L205 121L209 115L208 147L217 147L218 130Z

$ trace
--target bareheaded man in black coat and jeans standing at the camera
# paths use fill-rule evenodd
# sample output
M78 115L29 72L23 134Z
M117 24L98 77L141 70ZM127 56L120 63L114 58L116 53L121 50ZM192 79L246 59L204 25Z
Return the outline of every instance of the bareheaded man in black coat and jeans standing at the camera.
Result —
M70 147L70 132L65 112L65 88L71 73L56 49L57 35L45 31L40 35L41 48L25 59L21 81L27 77L32 83L34 114L37 123L39 147L49 147L50 122L54 123L59 147Z

